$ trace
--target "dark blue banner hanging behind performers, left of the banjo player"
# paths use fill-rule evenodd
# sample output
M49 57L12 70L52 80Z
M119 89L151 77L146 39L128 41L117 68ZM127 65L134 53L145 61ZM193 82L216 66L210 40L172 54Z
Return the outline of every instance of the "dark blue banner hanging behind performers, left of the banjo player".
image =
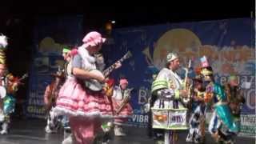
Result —
M65 63L63 46L75 46L82 42L82 17L38 18L37 22L25 112L29 117L44 118L43 96L46 86L52 81L50 74Z

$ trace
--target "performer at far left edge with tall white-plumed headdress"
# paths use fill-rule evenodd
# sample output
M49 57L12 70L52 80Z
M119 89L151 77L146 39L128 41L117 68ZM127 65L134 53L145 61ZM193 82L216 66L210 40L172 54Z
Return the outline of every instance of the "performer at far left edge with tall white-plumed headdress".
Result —
M6 74L6 54L4 50L6 49L7 38L4 35L0 36L0 122L2 130L0 134L7 134L10 125L10 114L14 113L16 98L14 95L18 91L18 86L22 85L22 79L27 77L24 74L22 78L14 77L13 74Z

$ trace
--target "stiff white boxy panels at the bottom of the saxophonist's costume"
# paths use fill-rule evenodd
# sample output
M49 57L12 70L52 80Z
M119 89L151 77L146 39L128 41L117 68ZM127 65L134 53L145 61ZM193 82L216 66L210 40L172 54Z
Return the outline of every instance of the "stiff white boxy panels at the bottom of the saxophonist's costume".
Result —
M186 130L188 123L186 122L186 108L151 108L152 110L152 126L154 129L165 130Z

